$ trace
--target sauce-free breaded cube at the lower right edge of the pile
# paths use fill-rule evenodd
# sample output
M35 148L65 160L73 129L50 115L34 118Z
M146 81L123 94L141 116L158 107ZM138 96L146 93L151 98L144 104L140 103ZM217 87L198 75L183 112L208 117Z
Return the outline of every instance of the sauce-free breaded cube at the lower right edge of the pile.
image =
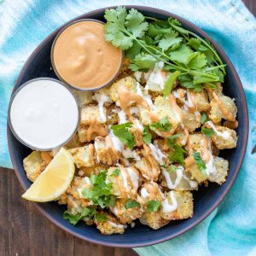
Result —
M216 156L216 157L214 157L214 165L216 168L216 172L211 173L208 176L208 180L221 185L222 183L224 183L226 181L226 177L228 176L229 161Z

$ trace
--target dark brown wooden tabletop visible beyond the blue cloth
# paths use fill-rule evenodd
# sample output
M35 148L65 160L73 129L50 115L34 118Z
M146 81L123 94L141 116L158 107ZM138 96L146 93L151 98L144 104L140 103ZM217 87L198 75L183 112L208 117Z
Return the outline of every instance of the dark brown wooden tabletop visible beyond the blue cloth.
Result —
M256 15L256 0L243 0ZM23 189L15 172L0 167L0 256L15 255L137 255L131 249L112 248L82 241L62 231L21 200Z

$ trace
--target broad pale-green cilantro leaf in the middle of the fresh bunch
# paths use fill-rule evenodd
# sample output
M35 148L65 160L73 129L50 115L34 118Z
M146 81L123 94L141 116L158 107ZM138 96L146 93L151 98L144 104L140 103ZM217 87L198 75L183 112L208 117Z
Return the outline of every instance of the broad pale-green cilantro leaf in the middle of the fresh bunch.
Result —
M172 61L177 61L184 65L188 65L189 61L195 58L195 55L196 53L184 44L182 44L179 49L172 51L170 54Z

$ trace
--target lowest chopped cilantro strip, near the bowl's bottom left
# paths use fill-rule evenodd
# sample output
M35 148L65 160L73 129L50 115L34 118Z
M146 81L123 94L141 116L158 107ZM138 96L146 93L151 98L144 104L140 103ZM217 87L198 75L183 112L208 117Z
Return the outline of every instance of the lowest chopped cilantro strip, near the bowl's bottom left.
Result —
M108 218L104 213L99 213L96 211L96 208L93 207L84 207L82 212L78 212L76 214L72 214L69 211L65 211L63 213L63 218L67 219L71 224L78 224L79 220L84 218L98 220L98 221L107 221Z

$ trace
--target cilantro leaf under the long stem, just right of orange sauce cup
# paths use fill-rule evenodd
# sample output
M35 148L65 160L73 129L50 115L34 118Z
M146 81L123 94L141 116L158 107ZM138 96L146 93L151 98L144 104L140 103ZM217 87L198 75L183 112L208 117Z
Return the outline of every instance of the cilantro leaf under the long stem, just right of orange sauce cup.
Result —
M132 71L137 70L148 70L149 68L154 68L157 60L152 55L146 53L138 54L131 60L130 69Z

